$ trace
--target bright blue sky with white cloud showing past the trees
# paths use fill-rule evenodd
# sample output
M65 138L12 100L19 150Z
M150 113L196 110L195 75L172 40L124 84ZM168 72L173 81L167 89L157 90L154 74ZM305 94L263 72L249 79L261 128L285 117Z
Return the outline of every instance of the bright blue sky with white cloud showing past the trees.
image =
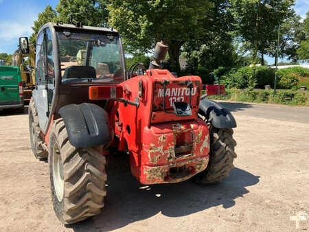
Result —
M31 26L46 5L56 7L58 0L0 0L0 53L12 54L21 36L32 34ZM297 0L295 11L303 18L309 10L309 0ZM274 58L266 57L268 64Z

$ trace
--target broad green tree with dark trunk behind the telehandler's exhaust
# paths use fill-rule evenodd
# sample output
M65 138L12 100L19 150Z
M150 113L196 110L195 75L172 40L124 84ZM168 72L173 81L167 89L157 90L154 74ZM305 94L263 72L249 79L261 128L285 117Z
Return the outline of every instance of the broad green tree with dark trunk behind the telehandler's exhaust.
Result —
M108 5L109 23L124 38L126 50L132 54L149 52L155 43L164 40L172 71L180 73L181 47L207 33L206 19L211 8L209 1L115 0Z

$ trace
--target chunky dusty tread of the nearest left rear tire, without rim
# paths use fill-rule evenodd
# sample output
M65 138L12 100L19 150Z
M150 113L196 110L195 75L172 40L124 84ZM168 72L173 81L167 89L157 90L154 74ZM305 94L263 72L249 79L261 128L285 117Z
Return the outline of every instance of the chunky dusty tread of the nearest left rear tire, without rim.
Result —
M93 148L73 147L62 119L54 121L52 130L60 144L65 181L63 211L57 213L54 207L56 215L65 224L95 216L106 196L105 157Z

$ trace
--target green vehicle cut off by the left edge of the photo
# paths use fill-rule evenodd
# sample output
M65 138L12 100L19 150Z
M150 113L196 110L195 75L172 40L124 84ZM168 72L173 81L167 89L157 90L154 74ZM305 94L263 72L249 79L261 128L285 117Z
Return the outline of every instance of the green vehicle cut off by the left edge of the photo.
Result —
M21 70L19 67L0 66L0 109L23 108Z

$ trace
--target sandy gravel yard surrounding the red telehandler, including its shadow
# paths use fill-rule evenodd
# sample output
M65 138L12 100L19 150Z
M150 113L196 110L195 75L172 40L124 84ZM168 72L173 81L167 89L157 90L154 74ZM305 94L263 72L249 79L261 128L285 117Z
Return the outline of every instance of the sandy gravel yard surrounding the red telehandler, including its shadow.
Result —
M145 187L111 173L105 207L73 226L54 214L48 163L30 150L26 114L0 112L0 231L297 231L309 229L309 108L222 102L238 159L212 187Z

